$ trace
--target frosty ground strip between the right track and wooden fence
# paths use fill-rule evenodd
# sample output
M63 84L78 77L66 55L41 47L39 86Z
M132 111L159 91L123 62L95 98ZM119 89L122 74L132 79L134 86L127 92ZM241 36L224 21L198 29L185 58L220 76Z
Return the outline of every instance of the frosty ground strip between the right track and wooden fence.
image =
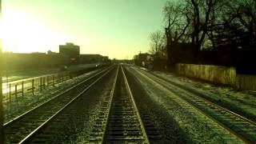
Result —
M207 82L198 82L190 78L180 77L171 73L154 71L161 78L178 83L188 87L190 90L197 91L205 95L205 98L212 102L218 103L229 110L256 121L256 91L252 90L235 90L228 86L216 86Z

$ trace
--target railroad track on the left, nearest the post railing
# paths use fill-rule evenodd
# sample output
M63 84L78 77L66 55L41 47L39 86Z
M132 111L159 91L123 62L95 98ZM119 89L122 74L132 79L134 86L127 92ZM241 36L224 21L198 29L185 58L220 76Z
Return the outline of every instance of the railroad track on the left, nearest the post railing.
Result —
M68 90L63 91L54 98L42 103L25 114L14 118L4 124L6 143L23 143L30 140L43 126L46 126L58 114L61 114L67 106L70 106L77 98L99 82L102 77L113 70L113 66L94 74L90 78L79 82Z

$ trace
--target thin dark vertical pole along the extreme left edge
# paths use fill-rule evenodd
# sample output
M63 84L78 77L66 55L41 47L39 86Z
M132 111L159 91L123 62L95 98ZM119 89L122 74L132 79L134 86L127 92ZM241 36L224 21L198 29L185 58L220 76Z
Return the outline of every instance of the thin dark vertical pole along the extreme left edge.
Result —
M2 0L0 0L0 21L2 21ZM2 38L0 38L0 144L4 142L2 106Z

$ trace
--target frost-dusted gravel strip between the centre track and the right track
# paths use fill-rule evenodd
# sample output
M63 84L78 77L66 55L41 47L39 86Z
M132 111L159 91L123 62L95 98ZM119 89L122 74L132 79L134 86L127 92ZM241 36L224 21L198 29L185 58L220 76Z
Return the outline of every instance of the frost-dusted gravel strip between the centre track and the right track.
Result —
M132 74L142 85L146 91L150 101L154 102L154 109L159 109L161 114L166 111L174 119L173 123L177 123L178 127L184 132L178 134L178 138L183 138L185 143L242 143L239 142L229 132L223 130L215 122L202 115L198 110L192 109L185 102L182 102L174 96L169 90L163 90L161 86L150 82L147 78L130 70ZM163 123L162 125L166 125ZM167 125L171 126L172 123ZM180 131L180 130L179 130ZM175 133L177 135L177 132Z

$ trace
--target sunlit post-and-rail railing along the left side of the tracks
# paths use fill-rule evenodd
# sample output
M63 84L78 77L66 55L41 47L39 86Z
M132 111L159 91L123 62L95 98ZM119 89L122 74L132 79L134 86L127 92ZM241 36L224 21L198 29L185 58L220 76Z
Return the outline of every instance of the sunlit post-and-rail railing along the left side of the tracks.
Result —
M86 72L102 68L103 66L95 66L83 70L66 71L59 74L47 74L40 77L26 78L14 82L3 83L3 101L16 101L18 100L18 97L23 98L25 94L35 94L36 92L42 91L50 86L56 86L61 82L78 77Z

